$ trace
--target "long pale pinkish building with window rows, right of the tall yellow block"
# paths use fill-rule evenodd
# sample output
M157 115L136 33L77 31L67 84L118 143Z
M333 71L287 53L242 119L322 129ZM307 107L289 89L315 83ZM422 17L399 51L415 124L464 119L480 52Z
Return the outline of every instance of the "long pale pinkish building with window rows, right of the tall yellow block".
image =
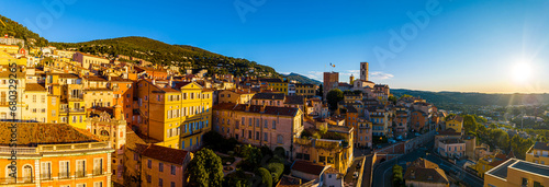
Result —
M272 150L282 147L291 156L304 128L302 114L299 108L225 103L214 106L213 119L215 130L225 137Z

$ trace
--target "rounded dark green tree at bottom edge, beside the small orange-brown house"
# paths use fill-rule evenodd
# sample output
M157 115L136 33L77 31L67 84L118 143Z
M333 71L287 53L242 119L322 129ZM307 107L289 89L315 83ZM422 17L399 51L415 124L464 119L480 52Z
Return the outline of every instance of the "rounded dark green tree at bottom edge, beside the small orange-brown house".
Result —
M223 164L221 157L210 149L197 152L187 170L191 186L215 187L222 185Z

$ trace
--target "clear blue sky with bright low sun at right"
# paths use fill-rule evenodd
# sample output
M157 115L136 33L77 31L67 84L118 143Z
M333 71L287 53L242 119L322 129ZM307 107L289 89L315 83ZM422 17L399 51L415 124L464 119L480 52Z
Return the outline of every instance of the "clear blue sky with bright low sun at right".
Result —
M145 36L320 81L367 61L392 89L549 93L545 0L18 0L0 14L51 42Z

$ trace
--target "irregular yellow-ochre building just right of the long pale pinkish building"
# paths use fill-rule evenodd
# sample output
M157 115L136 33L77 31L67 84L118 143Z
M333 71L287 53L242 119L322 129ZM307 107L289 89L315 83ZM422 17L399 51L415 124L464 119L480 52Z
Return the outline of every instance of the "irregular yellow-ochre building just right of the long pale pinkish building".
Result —
M322 163L329 165L339 173L346 174L352 163L352 127L330 126L326 122L316 124L318 130L326 128L327 131L317 138L302 137L295 140L294 159ZM312 129L307 129L312 130Z

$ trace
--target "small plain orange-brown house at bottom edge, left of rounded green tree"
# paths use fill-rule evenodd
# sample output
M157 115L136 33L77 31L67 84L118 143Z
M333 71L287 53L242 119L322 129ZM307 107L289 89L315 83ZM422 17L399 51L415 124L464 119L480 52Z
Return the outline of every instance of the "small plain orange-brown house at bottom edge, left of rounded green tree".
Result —
M186 186L189 151L150 144L139 154L141 186Z

